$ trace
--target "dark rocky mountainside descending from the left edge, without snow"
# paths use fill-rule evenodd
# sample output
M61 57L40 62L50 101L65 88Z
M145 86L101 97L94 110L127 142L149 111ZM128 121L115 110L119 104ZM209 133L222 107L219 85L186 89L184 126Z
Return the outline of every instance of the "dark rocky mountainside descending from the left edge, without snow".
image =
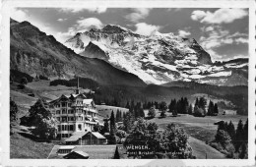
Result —
M118 70L102 60L77 55L29 22L11 20L10 24L12 70L51 80L72 79L76 75L102 84L145 85L137 76Z

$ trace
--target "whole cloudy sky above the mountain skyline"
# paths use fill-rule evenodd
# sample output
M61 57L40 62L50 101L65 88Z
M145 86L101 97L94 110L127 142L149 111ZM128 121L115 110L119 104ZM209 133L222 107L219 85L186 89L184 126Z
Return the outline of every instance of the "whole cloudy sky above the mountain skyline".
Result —
M248 57L248 9L15 8L11 18L28 21L62 43L79 31L111 24L144 35L158 30L195 38L214 61Z

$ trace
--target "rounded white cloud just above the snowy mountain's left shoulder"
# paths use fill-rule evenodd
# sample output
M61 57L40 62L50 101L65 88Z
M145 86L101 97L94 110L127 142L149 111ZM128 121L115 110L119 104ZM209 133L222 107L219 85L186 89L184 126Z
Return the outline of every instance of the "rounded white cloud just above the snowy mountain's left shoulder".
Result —
M87 18L77 21L78 30L89 30L91 28L101 28L102 23L97 18Z

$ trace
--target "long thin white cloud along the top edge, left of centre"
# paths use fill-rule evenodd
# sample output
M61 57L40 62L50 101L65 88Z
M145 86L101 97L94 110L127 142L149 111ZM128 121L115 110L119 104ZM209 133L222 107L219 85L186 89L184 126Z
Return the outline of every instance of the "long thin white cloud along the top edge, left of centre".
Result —
M83 11L89 11L94 13L104 13L106 12L107 8L105 7L96 7L96 8L61 8L59 11L63 13L79 13Z

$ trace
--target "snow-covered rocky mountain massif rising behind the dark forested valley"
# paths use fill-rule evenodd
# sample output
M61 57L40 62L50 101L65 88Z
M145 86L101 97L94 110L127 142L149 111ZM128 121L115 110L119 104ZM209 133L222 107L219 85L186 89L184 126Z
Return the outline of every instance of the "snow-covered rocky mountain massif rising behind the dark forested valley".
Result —
M145 83L247 84L248 60L213 63L195 39L171 32L155 30L146 36L106 25L78 32L64 44L84 57L101 59L132 73Z

